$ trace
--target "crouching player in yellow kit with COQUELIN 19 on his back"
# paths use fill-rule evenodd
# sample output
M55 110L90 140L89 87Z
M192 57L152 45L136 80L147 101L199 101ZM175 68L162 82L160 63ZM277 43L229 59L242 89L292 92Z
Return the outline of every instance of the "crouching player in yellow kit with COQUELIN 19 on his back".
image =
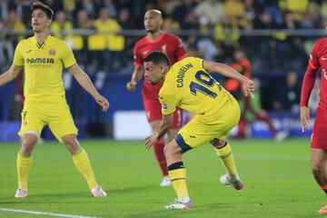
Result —
M144 70L144 76L151 84L163 83L159 92L163 119L154 134L145 139L146 149L151 148L168 131L176 106L196 114L173 141L164 147L169 178L177 194L176 201L165 208L193 207L186 187L182 154L208 142L213 144L227 171L221 176L221 182L232 185L236 190L243 189L231 147L225 141L232 128L238 124L240 108L233 95L208 73L216 72L238 80L243 84L245 95L254 91L253 81L225 64L196 57L186 57L171 66L167 56L161 52L154 52L145 57Z

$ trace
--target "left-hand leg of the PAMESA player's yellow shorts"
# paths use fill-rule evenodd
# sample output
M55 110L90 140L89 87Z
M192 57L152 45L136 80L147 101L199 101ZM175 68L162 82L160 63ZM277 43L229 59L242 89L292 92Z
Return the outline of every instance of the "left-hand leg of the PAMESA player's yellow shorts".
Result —
M18 135L22 137L24 134L35 134L37 138L40 138L40 134L45 127L45 114L42 106L25 104L21 116L21 127Z

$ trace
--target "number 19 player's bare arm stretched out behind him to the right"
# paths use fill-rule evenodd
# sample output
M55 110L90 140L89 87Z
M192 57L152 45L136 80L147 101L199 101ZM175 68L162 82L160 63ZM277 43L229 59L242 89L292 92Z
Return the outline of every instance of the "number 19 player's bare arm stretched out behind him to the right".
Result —
M243 84L243 94L245 96L248 96L250 94L253 97L254 82L251 79L245 77L243 74L240 74L239 72L235 71L232 67L226 64L203 60L203 68L209 73L219 73L223 74L226 77L236 79L237 81Z

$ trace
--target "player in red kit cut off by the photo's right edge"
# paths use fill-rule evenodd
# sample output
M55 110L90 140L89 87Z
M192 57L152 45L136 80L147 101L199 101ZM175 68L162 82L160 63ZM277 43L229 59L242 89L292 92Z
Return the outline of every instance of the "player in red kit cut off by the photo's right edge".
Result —
M300 116L302 132L309 127L310 112L308 101L316 74L322 68L322 84L320 89L320 102L317 108L316 118L313 124L311 140L312 173L315 181L320 185L322 191L327 194L327 38L318 40L313 45L310 60L302 82ZM327 205L319 213L327 213Z

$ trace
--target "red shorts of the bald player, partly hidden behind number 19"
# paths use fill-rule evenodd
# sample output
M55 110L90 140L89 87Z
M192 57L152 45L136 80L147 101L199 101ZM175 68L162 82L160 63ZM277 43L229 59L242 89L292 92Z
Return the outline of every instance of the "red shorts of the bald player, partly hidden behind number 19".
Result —
M144 111L149 123L162 119L162 105L160 104L159 100L144 98ZM179 129L182 127L182 124L183 110L179 107L176 107L176 110L173 113L173 124L171 129Z

